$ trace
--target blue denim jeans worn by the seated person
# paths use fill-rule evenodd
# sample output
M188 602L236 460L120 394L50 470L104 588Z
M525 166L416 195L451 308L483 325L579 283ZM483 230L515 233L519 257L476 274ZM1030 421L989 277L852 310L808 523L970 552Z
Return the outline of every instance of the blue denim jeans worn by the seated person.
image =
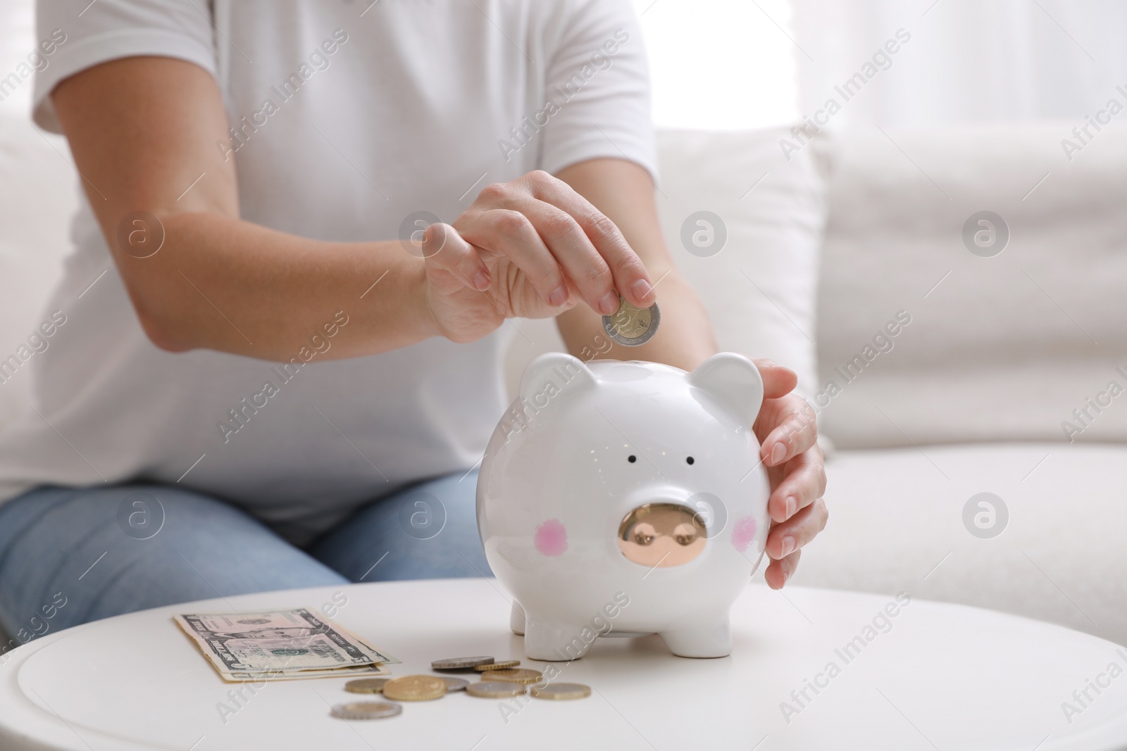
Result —
M298 548L208 495L166 485L44 486L0 504L0 653L175 602L299 587L488 576L477 472L361 507ZM0 658L2 662L2 658Z

